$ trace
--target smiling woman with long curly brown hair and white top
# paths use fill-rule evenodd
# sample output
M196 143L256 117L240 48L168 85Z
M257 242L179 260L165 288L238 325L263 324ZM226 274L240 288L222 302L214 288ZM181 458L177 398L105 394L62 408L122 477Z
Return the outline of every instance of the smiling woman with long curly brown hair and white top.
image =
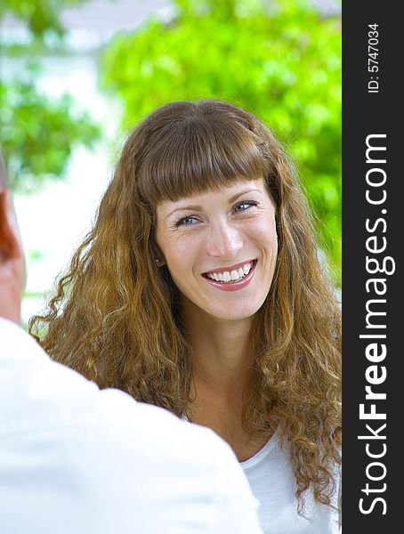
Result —
M55 360L228 441L265 532L336 531L340 313L259 119L223 101L146 117L44 326Z

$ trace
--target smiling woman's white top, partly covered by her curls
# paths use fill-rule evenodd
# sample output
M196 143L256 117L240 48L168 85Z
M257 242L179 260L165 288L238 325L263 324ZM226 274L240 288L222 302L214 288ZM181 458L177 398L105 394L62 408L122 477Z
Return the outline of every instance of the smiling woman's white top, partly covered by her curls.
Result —
M316 503L310 490L304 496L305 517L297 514L295 476L287 447L281 448L277 433L254 457L241 466L255 497L264 534L336 534L338 513L330 506ZM334 505L337 502L335 495Z

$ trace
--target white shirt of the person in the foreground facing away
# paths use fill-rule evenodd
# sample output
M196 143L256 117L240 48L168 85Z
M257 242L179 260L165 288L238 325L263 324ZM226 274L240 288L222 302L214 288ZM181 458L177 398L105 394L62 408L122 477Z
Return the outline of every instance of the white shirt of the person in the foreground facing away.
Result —
M230 447L0 319L2 534L262 534Z

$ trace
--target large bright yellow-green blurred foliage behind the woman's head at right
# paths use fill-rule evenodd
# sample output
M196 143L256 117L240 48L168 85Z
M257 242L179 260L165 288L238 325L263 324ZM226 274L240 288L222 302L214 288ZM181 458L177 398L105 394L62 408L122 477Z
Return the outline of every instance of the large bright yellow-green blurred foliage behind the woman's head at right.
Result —
M177 0L102 58L103 84L124 103L125 130L174 100L220 98L271 126L295 158L335 282L341 266L341 28L310 3Z

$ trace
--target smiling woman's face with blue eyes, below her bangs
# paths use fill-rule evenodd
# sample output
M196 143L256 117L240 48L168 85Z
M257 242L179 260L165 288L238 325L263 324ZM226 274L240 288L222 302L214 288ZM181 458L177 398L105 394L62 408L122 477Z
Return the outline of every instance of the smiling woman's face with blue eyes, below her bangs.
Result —
M263 179L161 202L156 237L187 310L240 320L263 305L278 254Z

